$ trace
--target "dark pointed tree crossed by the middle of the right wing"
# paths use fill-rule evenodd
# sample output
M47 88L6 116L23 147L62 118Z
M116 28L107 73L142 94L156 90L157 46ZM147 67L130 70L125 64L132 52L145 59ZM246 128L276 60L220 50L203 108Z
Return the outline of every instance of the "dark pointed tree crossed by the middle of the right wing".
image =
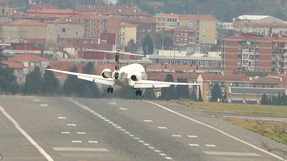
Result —
M174 82L173 76L171 74L167 74L165 81L166 82ZM177 99L176 90L175 90L174 85L171 85L170 87L162 88L161 89L161 97L164 100Z

